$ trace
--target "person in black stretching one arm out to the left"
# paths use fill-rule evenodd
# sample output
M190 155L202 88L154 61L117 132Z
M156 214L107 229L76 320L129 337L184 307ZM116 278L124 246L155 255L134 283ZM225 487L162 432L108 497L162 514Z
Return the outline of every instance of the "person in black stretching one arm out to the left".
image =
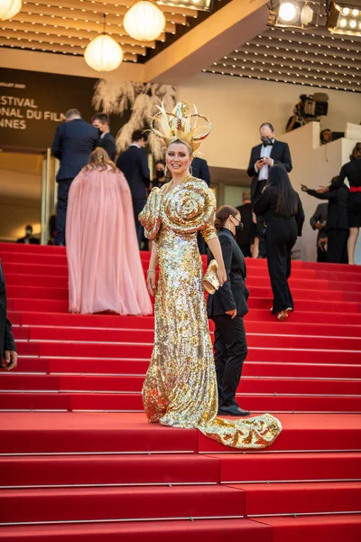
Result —
M327 192L324 192L323 189L317 191L310 190L304 184L301 184L301 189L302 192L307 192L314 198L329 201L325 229L328 237L327 261L329 264L347 264L348 188L346 184L342 184L339 188L335 188L337 183L338 177L334 177L329 184L329 190Z

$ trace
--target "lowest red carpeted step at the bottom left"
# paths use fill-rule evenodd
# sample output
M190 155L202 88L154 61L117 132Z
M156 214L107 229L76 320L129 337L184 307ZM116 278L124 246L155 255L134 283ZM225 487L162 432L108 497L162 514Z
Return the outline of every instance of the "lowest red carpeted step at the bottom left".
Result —
M273 529L249 519L184 519L2 527L3 542L273 542ZM349 542L356 542L348 538ZM312 541L313 542L313 541Z

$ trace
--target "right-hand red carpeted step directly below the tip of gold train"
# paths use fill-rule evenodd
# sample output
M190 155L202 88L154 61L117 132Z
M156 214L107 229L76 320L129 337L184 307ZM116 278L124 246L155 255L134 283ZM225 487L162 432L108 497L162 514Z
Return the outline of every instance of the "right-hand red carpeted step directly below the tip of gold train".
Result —
M361 480L361 452L221 453L221 483Z

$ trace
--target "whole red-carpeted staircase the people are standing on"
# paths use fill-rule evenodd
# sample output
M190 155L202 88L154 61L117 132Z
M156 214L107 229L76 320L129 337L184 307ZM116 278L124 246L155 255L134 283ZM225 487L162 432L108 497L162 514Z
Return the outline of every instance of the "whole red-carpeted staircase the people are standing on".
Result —
M283 432L244 453L146 423L152 317L67 313L62 248L0 257L20 354L0 373L2 540L361 539L359 267L294 262L296 312L274 322L266 263L248 261L238 402Z

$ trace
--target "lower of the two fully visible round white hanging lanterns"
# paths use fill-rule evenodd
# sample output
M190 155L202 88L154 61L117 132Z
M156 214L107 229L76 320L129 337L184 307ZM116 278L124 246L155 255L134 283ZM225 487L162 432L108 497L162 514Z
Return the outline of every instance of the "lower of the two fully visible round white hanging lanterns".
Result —
M97 71L116 70L123 62L123 49L111 36L101 34L88 43L84 59Z

